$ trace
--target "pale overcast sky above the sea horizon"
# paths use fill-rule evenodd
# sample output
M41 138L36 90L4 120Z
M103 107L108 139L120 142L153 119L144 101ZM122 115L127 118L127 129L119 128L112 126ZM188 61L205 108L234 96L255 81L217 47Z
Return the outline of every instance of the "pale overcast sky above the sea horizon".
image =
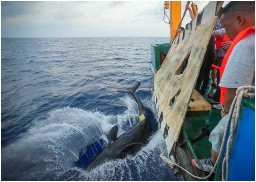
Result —
M209 1L194 1L198 10ZM164 1L1 1L1 37L170 37ZM182 14L186 1L182 1ZM168 10L167 15L170 16ZM190 21L187 13L183 25Z

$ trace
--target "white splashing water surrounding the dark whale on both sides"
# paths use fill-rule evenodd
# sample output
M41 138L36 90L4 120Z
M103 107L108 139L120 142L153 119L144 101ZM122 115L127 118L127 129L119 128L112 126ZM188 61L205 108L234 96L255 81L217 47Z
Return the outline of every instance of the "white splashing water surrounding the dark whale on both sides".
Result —
M138 105L128 96L121 98L121 102L127 110L118 115L70 107L49 112L47 119L36 121L15 143L2 149L2 180L166 180L166 176L173 179L168 165L159 157L159 144L165 147L161 131L134 156L107 161L90 172L76 165L88 145L100 139L104 141L102 148L107 145L108 132L115 123L119 126L118 136L134 124ZM155 112L150 101L142 102ZM100 151L93 152L96 155Z

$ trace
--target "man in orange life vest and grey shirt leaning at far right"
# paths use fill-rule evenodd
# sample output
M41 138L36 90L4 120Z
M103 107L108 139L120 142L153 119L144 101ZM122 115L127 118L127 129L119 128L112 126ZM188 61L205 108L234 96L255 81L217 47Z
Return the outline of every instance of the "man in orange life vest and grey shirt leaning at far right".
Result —
M209 173L217 160L226 114L237 88L255 85L255 1L229 2L221 13L220 21L226 34L233 39L233 43L225 54L220 68L221 99L224 106L221 112L222 119L209 136L212 143L211 158L192 159L192 165L202 173Z

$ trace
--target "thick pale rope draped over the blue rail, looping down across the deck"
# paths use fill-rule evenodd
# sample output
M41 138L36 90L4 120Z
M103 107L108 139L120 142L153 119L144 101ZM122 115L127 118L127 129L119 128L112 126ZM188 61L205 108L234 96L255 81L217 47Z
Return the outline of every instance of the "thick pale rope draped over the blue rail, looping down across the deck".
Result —
M232 119L231 120L231 125L230 125L230 128L231 128L230 129L230 135L228 137L228 142L227 142L226 155L225 155L225 157L223 159L223 163L222 163L222 180L224 180L224 181L228 180L229 150L230 150L230 147L232 146L234 131L236 129L238 119L239 119L241 100L242 100L243 97L246 97L246 98L255 97L255 93L249 93L252 90L255 90L255 86L252 86L252 85L241 86L237 89L236 96L233 99L232 105L231 105L230 110L229 110L229 115L228 115L228 118L227 118L227 121L226 121L226 127L225 127L224 135L223 135L223 138L222 138L222 143L221 143L219 155L217 157L217 160L216 160L211 172L207 176L199 177L199 176L196 176L194 174L191 174L190 172L188 172L185 168L181 167L176 162L173 162L170 159L166 158L163 155L163 152L162 152L160 154L160 157L163 159L163 161L168 163L169 166L172 166L172 167L177 166L177 167L181 168L187 174L191 175L194 178L197 178L197 179L200 179L200 180L205 180L205 179L209 178L214 173L214 171L217 167L217 163L218 163L220 157L222 156L222 153L224 152L223 149L224 149L224 145L225 145L225 139L226 139L226 135L227 135L227 131L228 131L228 126L229 126L230 120ZM226 166L226 178L224 178L224 169L225 169L224 166Z

